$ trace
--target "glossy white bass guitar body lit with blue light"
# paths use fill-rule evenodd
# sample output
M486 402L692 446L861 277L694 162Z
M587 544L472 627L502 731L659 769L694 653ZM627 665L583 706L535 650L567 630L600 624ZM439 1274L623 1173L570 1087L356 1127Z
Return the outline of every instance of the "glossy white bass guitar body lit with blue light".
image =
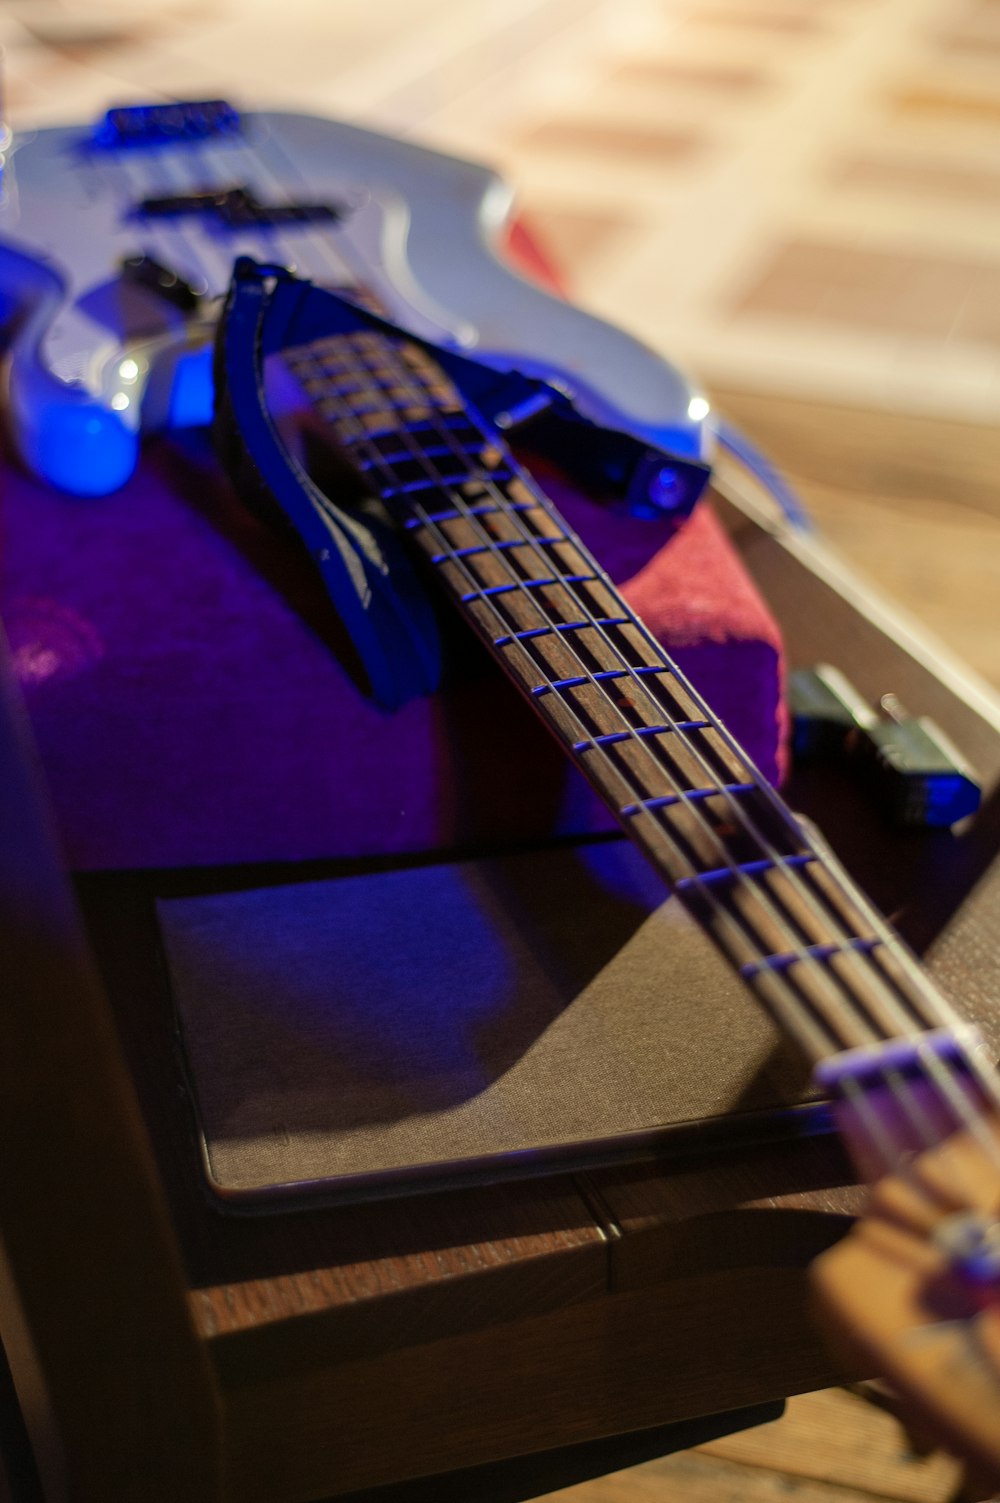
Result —
M707 403L672 365L504 265L513 195L492 171L308 116L229 111L188 137L143 122L206 108L15 137L0 326L11 430L38 475L104 494L131 475L141 433L211 419L211 337L239 256L362 289L423 338L705 457Z

